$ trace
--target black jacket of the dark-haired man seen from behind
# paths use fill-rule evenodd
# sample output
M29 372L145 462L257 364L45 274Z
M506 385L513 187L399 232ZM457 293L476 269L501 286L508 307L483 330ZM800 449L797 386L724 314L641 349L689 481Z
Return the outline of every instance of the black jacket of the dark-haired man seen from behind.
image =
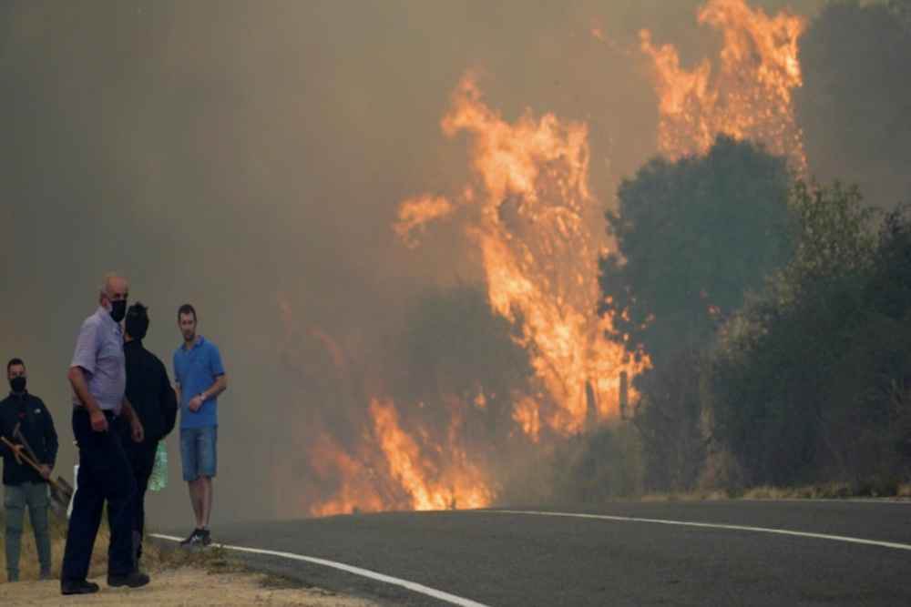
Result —
M133 339L124 344L127 359L127 400L142 422L148 444L155 444L174 430L177 395L168 371L157 356Z

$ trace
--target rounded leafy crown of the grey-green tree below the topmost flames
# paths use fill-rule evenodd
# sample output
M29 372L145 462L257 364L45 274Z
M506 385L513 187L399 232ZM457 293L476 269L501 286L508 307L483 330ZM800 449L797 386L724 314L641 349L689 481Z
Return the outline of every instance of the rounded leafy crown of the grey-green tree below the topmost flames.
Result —
M701 349L791 253L783 157L719 137L704 157L658 157L608 212L617 253L600 261L610 336L660 366Z

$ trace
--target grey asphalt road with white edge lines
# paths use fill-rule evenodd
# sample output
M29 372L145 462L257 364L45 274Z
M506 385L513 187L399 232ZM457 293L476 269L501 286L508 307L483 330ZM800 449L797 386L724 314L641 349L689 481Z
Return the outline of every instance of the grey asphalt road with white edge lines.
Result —
M911 545L911 503L617 503L621 517L806 531ZM911 550L766 532L495 511L237 524L216 541L339 561L486 605L911 605ZM351 573L260 567L400 605L443 605Z

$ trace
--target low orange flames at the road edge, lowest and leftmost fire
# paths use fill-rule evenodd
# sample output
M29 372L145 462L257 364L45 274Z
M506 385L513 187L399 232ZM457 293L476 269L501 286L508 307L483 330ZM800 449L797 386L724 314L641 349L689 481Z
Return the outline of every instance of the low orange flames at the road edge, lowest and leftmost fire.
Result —
M403 422L393 400L370 396L381 388L369 379L369 358L363 367L325 330L302 329L285 295L279 294L278 305L286 329L283 358L295 371L310 374L303 385L311 387L316 380L331 385L319 393L327 401L311 409L306 420L288 421L288 436L305 445L309 473L302 476L300 461L272 462L276 486L285 491L276 501L279 516L297 516L301 508L313 516L328 516L480 508L493 501L495 485L465 447L463 417L466 410L486 406L483 393L473 402L443 395L450 418L443 430L431 430L420 419ZM315 353L322 353L322 360ZM360 389L358 383L363 383ZM306 398L312 401L312 395ZM339 415L350 424L342 433L344 442L330 430L338 428ZM291 491L299 491L298 499L292 499Z

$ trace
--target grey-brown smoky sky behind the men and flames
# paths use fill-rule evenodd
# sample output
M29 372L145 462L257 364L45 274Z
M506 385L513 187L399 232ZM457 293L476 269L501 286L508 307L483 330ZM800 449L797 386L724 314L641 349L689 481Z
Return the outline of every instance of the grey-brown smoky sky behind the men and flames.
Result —
M638 31L697 61L718 42L696 25L698 5L4 2L0 354L26 359L54 413L58 469L73 460L77 329L118 270L150 307L146 343L169 369L184 302L220 345L230 388L215 519L270 516L280 490L262 470L303 452L276 453L271 432L322 406L288 389L279 302L369 353L422 288L482 276L458 235L415 254L390 228L404 198L466 182L466 141L439 128L466 69L507 119L587 121L592 187L609 204L656 151ZM168 445L170 486L148 511L189 522L175 436Z

